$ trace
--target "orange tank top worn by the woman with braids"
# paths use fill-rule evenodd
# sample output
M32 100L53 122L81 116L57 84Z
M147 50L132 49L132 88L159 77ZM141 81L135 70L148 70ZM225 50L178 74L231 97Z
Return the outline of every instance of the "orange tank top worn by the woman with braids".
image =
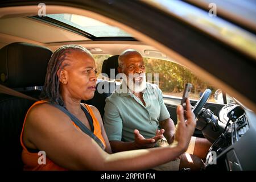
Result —
M42 103L47 103L46 101L37 101L35 102L31 107L34 107L35 105L38 105L38 104L42 104ZM106 143L105 143L105 140L104 138L102 137L102 134L101 134L101 126L100 126L100 123L97 121L97 118L95 117L94 113L93 113L93 110L92 108L90 108L89 105L86 105L84 104L86 109L88 110L89 114L92 116L92 119L93 119L93 127L94 127L94 132L93 134L96 135L100 140L101 142L104 144L104 146L106 147ZM30 111L30 109L28 109L27 111L27 114L28 112ZM24 164L24 170L43 170L43 171L50 171L50 170L57 170L57 171L60 171L60 170L67 170L65 168L62 168L60 166L58 166L57 164L55 164L54 162L52 162L50 159L48 159L46 157L46 164L39 164L38 163L38 159L39 159L39 155L38 153L32 153L32 152L29 152L27 150L27 148L24 146L23 144L23 140L22 140L22 135L23 135L23 131L24 131L24 125L25 125L25 122L26 122L26 119L27 119L27 114L26 114L26 117L24 119L24 122L23 122L23 127L22 127L22 133L20 134L20 144L22 145L22 162ZM80 130L80 128L73 122L73 125L78 129ZM81 131L81 130L80 130ZM81 131L82 132L82 131Z

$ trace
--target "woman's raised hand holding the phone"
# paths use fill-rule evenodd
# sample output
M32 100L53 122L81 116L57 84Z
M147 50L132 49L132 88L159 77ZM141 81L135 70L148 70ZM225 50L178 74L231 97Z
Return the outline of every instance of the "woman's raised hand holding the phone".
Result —
M186 117L187 121L184 119L184 111L183 107L179 105L177 107L177 125L175 132L175 141L177 141L177 146L181 147L181 149L185 152L188 148L188 144L190 139L195 131L196 120L195 114L191 110L191 105L189 100L186 100L187 109L186 109Z

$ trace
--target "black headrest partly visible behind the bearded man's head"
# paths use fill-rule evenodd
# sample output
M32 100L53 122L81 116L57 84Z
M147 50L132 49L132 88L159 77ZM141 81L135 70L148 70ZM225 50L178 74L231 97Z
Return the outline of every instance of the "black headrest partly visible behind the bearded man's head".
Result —
M109 78L115 79L115 76L117 76L118 74L118 56L119 55L114 55L104 60L102 64L101 73L105 73L106 75L108 75ZM115 69L114 77L110 77L110 69Z

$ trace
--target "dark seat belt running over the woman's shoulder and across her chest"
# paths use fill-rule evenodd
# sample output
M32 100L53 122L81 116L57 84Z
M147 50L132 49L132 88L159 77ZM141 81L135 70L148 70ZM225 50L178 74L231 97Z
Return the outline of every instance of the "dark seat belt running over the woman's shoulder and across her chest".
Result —
M14 90L14 89L10 89L7 86L1 85L1 84L0 84L0 93L4 93L4 94L8 94L8 95L15 96L15 97L20 97L20 98L25 98L25 99L32 100L32 101L39 101L36 98L27 96L26 94L20 93L20 92ZM51 104L51 103L49 103L49 104ZM71 118L71 121L73 121L81 129L81 131L83 131L90 138L94 139L95 142L98 143L98 145L103 150L106 150L106 148L105 148L104 144L101 142L101 140L96 135L94 135L92 133L92 131L90 131L79 119L77 119L75 117L75 115L70 113L63 106L60 106L60 105L57 105L57 104L51 104L51 105L57 107L58 109L63 111L65 114L67 114L69 116L69 118Z

